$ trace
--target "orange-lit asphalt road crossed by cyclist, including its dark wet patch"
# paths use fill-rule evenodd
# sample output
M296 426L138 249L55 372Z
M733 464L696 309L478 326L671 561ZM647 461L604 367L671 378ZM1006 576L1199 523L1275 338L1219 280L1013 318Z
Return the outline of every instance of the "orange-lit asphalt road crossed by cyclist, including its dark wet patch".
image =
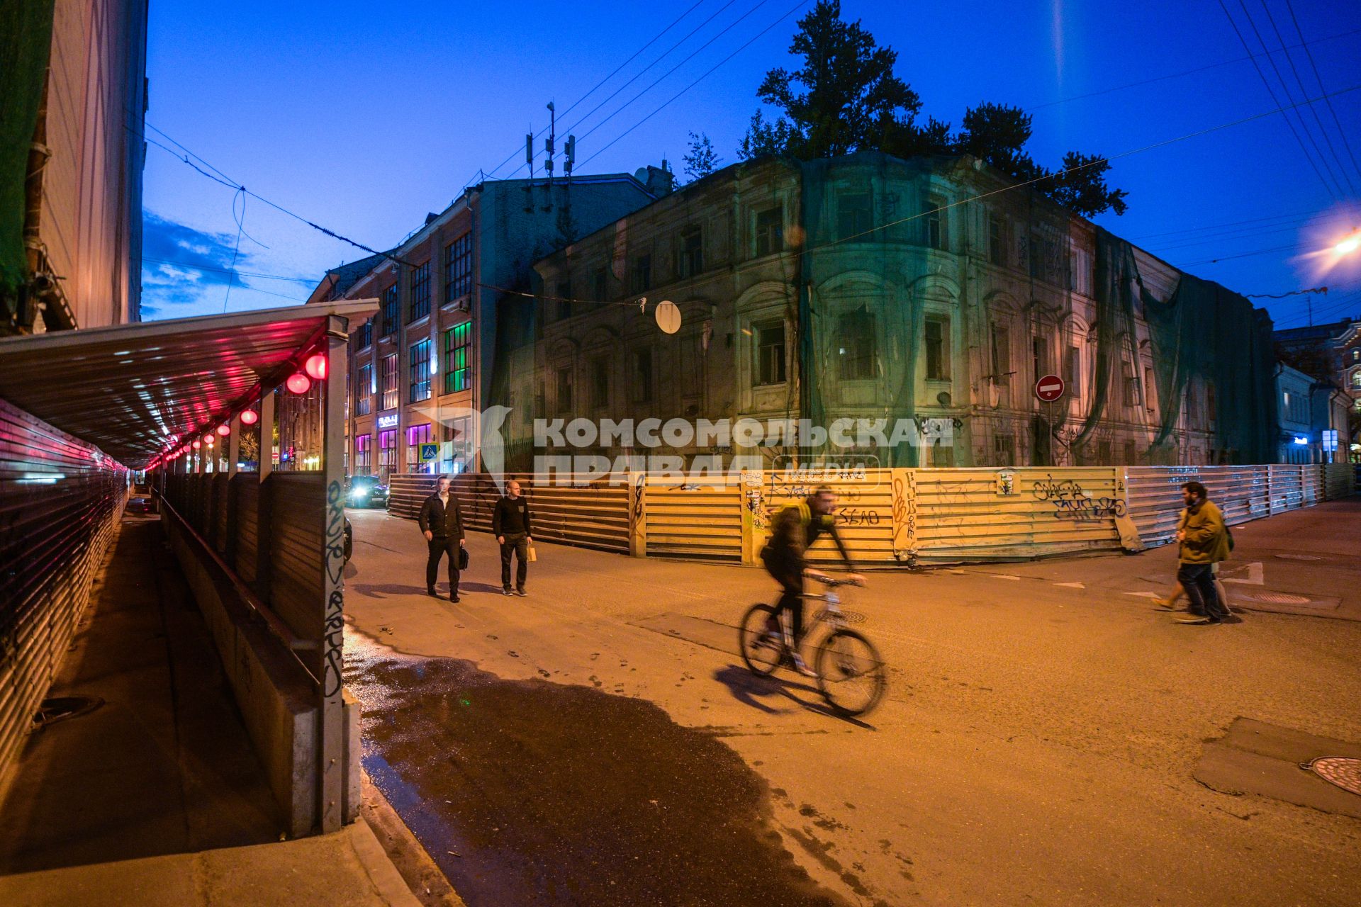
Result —
M1358 500L1234 530L1239 624L1153 609L1168 549L871 575L862 722L740 666L758 570L539 544L505 598L474 534L452 604L350 518L365 766L472 907L1358 903L1361 820L1192 776L1239 717L1361 741Z

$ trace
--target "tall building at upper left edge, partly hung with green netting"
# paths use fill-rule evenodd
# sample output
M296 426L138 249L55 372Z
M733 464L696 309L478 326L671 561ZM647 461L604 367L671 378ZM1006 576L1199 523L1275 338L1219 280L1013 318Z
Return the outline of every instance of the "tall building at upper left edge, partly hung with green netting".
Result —
M139 321L147 3L7 5L0 333Z

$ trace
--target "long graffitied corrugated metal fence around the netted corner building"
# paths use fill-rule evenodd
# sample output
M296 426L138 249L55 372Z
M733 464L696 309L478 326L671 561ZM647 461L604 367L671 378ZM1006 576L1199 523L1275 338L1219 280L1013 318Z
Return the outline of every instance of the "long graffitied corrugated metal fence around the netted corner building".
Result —
M1262 466L1090 466L1014 469L783 470L686 483L672 477L555 475L529 499L535 536L568 544L727 563L757 563L776 510L818 485L837 492L842 538L866 567L1014 560L1120 548L1128 517L1146 545L1170 541L1181 484L1200 481L1230 525L1354 492L1350 464ZM577 484L569 484L576 480ZM434 476L392 476L389 511L415 517ZM464 519L489 529L499 490L487 475L453 481ZM837 558L833 547L810 552Z

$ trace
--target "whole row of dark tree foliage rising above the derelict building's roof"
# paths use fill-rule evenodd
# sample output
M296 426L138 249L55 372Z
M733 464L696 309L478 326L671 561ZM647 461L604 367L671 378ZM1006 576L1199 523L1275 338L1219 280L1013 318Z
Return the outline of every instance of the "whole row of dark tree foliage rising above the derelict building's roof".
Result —
M766 73L757 97L780 114L753 114L738 147L742 159L778 154L811 160L875 148L898 158L972 155L1018 182L1033 182L1074 213L1127 209L1127 193L1109 186L1111 163L1100 155L1070 151L1055 171L1038 165L1025 151L1032 122L1019 107L981 102L964 112L958 132L935 117L919 124L921 99L893 72L897 52L881 48L859 20L842 20L840 0L819 0L799 20L789 53L803 65Z

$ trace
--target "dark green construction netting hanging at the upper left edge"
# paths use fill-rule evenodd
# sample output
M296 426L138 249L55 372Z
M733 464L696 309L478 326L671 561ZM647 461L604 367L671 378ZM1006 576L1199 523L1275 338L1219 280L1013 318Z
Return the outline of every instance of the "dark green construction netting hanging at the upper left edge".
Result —
M48 78L53 5L50 0L0 0L0 299L5 305L14 305L27 272L24 182Z

